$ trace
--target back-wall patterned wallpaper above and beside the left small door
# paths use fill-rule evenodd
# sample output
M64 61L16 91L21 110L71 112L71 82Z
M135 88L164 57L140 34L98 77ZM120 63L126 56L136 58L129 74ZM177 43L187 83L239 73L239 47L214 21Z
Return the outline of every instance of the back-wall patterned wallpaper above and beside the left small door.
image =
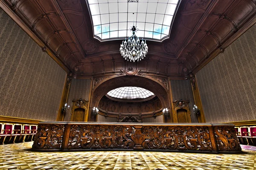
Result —
M72 79L70 84L70 91L68 94L67 104L72 108L72 100L85 99L89 100L90 93L90 79ZM67 114L64 116L63 121L70 121L71 119L71 109L68 110Z

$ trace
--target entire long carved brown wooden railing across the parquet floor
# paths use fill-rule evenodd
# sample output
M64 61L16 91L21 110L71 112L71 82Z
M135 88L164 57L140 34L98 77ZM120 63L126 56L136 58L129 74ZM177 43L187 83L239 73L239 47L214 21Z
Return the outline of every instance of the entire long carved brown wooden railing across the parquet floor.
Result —
M241 153L232 124L40 122L32 149Z

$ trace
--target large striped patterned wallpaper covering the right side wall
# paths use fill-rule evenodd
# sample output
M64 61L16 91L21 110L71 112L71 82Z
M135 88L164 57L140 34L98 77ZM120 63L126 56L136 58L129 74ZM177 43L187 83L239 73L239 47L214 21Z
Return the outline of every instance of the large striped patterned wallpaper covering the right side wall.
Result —
M256 25L196 74L206 121L256 119Z

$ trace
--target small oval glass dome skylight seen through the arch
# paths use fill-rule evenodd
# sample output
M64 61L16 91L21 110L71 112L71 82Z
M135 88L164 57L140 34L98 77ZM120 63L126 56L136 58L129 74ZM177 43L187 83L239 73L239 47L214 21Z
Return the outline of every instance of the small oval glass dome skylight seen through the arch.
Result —
M151 91L139 87L122 87L116 88L107 93L108 96L117 99L146 99L154 95Z

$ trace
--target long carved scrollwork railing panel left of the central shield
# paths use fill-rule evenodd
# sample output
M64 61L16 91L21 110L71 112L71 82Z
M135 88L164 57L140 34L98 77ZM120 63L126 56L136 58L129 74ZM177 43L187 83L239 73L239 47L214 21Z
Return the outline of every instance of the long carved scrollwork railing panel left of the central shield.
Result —
M72 125L68 149L133 149L131 126Z

